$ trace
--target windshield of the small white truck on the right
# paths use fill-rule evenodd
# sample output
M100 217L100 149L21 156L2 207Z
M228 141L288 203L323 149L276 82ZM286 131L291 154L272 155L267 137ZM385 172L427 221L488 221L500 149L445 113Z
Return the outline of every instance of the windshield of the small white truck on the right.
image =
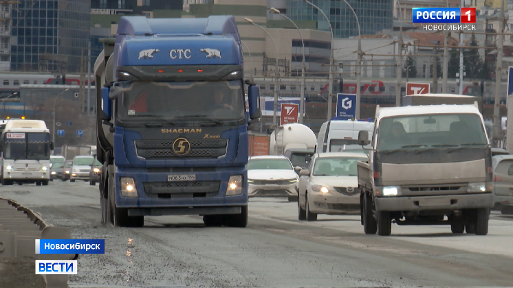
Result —
M488 145L481 117L475 114L411 115L380 121L378 151L454 149Z

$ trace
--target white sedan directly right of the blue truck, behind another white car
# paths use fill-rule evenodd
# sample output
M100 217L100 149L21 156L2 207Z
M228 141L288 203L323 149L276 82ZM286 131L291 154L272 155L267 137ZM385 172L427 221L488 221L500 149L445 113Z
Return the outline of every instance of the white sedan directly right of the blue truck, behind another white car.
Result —
M298 175L285 156L253 156L248 160L249 197L288 197L297 201Z

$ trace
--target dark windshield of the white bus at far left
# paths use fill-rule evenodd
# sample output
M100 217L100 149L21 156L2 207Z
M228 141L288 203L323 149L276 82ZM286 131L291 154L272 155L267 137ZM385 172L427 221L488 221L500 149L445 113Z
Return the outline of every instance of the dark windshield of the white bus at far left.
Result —
M50 159L50 134L48 133L5 133L3 141L6 159Z

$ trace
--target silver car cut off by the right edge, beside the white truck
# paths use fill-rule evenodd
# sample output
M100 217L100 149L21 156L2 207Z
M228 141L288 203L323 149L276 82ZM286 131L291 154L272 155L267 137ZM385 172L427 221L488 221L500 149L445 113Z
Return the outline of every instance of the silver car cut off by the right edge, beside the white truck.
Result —
M493 157L494 210L513 215L513 155Z

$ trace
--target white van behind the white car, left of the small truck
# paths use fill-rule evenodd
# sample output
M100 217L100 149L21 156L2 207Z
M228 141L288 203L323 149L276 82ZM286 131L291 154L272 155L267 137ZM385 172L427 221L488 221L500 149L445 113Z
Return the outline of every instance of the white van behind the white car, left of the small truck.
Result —
M372 137L374 123L356 120L327 121L320 126L315 152L344 152L350 150L361 152L363 149L358 145L358 132L360 130L369 131L369 137Z

